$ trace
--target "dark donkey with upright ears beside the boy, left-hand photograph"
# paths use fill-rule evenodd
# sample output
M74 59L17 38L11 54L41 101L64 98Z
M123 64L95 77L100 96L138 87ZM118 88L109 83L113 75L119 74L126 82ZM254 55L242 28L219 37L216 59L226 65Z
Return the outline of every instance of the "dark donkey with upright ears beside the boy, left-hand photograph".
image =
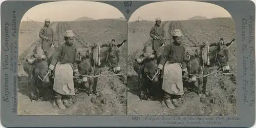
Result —
M101 45L100 49L97 45L95 45L87 50L84 54L81 54L81 52L78 53L78 58L81 61L81 63L78 65L78 68L81 69L82 67L89 66L89 68L84 70L84 72L80 72L80 70L79 73L82 75L96 76L100 74L104 66L109 67L110 70L113 70L114 73L119 73L121 71L119 66L120 53L124 42L126 42L126 39L123 40L120 44L116 45L115 39L112 39L109 44ZM82 79L87 79L87 77L83 76ZM97 82L98 77L94 77L93 81L92 79L89 79L89 95L97 95Z

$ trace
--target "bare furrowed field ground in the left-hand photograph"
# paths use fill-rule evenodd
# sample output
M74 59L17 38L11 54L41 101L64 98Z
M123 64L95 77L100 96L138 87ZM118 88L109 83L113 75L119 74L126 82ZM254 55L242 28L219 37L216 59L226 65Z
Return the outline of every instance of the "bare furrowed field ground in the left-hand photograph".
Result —
M37 23L43 26L42 23ZM107 43L113 38L116 43L127 38L127 24L123 21L102 19L92 21L58 22L52 23L56 38L55 45L63 43L63 33L71 29L75 32L75 45L79 50L85 50L83 46L93 43ZM22 23L19 34L19 65L18 65L18 115L126 115L126 76L99 77L97 90L99 96L88 96L79 93L73 97L73 106L66 110L60 110L53 102L52 92L46 91L48 99L31 102L28 97L28 78L21 65L24 57L31 54L33 48L40 44L39 27L29 22ZM121 73L126 74L127 44L121 52ZM105 98L106 103L100 101Z

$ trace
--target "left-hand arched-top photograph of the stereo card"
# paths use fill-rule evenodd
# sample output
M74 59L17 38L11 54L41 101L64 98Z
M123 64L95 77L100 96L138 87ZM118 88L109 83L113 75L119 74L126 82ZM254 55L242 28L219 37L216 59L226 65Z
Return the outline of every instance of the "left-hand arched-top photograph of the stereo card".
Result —
M126 115L127 22L99 2L50 2L19 26L18 115Z

